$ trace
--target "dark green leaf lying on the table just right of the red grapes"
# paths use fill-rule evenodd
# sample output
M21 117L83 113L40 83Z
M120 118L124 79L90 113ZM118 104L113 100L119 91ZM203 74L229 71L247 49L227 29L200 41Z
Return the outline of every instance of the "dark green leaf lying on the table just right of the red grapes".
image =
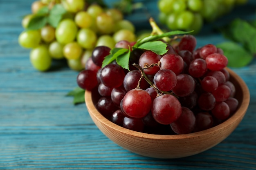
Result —
M242 46L235 42L223 42L216 46L224 51L224 55L229 60L229 67L247 66L254 58L251 53L248 53Z

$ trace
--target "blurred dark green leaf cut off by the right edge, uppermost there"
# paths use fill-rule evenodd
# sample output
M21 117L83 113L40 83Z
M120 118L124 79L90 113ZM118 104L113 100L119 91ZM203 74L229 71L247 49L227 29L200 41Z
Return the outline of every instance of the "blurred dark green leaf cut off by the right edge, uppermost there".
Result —
M249 52L256 54L256 28L249 22L236 19L220 31L226 38L241 43Z

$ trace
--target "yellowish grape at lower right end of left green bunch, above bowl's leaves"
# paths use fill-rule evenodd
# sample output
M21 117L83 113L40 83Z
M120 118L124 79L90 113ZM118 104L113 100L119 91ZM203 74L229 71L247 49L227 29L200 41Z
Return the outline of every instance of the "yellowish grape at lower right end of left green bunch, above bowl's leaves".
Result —
M126 40L128 42L136 41L135 34L128 29L121 29L121 30L115 32L113 35L113 38L114 38L115 42L119 42L121 40Z

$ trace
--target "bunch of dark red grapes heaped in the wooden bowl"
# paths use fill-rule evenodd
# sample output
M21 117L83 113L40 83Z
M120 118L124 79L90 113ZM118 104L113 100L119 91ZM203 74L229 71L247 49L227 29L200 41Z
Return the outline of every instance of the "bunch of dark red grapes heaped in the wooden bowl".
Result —
M120 41L116 47L132 44ZM102 67L111 49L98 46L77 83L88 91L97 89L97 110L124 128L153 134L206 130L228 119L238 100L223 51L213 44L195 47L195 37L184 35L175 46L167 44L164 55L134 49L128 71L116 62Z

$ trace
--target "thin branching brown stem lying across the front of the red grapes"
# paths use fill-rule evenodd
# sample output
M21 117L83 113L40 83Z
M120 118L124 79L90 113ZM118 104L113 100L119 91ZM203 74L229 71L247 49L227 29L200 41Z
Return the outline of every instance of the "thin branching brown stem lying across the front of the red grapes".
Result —
M177 95L175 95L174 93L172 92L167 92L167 91L160 91L156 86L155 84L153 84L153 82L151 82L151 80L148 78L148 76L145 74L145 72L143 71L144 69L146 68L149 68L149 67L153 67L153 66L159 66L161 65L161 62L157 62L157 63L154 63L154 64L151 64L149 66L146 66L144 68L141 68L141 66L139 66L139 64L136 64L136 63L133 63L132 66L135 66L136 68L139 69L140 73L141 73L141 77L139 79L139 82L138 82L138 86L136 87L136 89L139 89L139 85L140 85L140 82L142 80L142 78L144 78L148 84L150 84L150 86L152 86L155 91L157 92L157 97L160 96L160 95L163 95L163 94L168 94L168 95L173 95L174 97L176 97L177 99L179 98Z

